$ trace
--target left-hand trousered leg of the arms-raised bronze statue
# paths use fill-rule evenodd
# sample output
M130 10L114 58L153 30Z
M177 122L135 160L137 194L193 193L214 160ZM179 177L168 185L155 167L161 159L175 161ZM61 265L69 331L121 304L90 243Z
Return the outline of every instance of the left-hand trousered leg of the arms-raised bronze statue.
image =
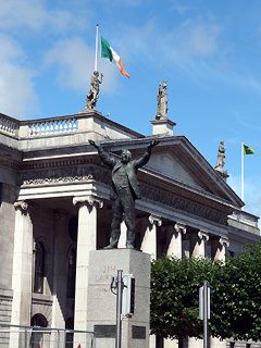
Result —
M122 204L117 197L116 200L112 202L112 223L111 223L111 237L110 245L105 247L107 249L114 249L117 247L117 243L121 234L121 221L122 221Z

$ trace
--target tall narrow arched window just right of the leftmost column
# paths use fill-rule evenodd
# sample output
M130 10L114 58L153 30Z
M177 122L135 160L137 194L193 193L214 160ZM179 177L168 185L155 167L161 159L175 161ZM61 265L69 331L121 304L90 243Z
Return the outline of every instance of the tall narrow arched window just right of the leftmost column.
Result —
M42 294L45 272L45 248L40 241L36 243L35 248L35 284L34 293Z

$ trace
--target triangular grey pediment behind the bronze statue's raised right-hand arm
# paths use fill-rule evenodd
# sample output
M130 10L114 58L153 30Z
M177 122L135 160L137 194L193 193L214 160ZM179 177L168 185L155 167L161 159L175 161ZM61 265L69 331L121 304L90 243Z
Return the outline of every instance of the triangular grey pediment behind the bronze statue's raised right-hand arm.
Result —
M215 196L233 206L244 206L225 179L185 136L163 138L152 151L148 166L191 190Z

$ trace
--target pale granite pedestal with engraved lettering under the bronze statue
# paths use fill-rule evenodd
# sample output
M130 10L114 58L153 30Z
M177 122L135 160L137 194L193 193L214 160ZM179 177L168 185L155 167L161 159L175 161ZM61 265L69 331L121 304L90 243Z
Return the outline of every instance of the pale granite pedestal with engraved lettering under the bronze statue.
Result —
M88 331L96 333L97 348L114 348L116 334L116 295L111 293L111 275L117 270L135 277L135 311L122 320L122 347L149 347L150 254L133 249L89 252Z

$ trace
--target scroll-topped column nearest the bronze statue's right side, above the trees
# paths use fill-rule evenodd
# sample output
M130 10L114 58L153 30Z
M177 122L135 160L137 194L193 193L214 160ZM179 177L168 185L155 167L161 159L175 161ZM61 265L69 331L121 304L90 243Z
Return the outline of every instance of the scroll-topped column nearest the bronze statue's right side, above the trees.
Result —
M152 259L157 259L157 225L161 226L160 216L151 214L149 216L150 225L147 226L141 241L140 250L151 254Z

